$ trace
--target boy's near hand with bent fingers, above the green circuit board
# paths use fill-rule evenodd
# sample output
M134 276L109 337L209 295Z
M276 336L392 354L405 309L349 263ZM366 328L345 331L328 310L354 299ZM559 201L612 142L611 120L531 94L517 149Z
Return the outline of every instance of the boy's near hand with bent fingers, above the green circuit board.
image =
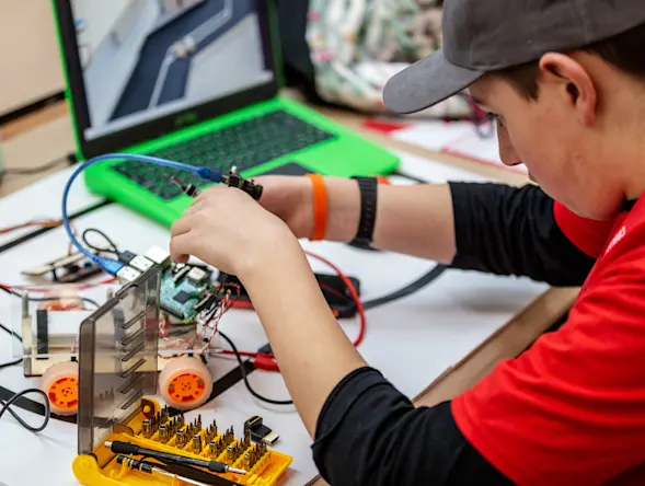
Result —
M269 189L269 200L270 194ZM290 248L290 240L298 244L278 217L242 190L222 185L197 196L172 225L171 236L175 262L195 256L240 278Z

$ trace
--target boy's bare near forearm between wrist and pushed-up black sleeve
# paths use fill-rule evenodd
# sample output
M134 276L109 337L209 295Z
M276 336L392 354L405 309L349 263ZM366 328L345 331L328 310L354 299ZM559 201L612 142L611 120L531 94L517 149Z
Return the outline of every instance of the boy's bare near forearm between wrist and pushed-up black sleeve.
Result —
M279 275L279 278L276 278ZM336 384L366 364L330 311L298 242L241 276L311 437ZM297 285L295 285L297 284Z

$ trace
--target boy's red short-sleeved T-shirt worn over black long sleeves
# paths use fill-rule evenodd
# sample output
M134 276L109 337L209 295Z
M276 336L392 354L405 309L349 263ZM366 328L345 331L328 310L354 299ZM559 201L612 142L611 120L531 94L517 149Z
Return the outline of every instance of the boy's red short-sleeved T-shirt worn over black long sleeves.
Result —
M645 197L609 223L555 205L597 257L567 322L452 402L471 444L519 485L645 485Z

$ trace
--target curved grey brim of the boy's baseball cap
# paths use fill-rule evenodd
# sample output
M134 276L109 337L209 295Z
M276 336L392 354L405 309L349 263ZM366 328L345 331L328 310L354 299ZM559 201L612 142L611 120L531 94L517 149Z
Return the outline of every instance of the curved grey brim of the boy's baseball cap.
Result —
M465 90L485 72L451 65L439 49L394 74L383 89L383 103L392 112L421 112Z

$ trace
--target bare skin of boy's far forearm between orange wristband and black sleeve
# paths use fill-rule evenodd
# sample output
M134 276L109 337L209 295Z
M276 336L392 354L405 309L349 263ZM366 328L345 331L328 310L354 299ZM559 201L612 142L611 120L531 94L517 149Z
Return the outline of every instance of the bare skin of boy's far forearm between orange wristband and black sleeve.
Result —
M356 181L329 177L326 239L349 242L360 220ZM379 186L373 246L449 263L454 256L452 199L447 184Z

